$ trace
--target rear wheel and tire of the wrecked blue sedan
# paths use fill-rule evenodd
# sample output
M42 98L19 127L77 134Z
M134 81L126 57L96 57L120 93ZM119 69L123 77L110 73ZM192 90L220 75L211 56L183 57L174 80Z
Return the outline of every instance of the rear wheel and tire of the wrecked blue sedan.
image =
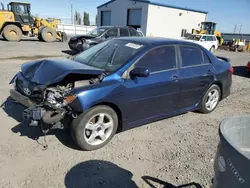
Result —
M213 102L210 103L210 107L208 107L208 102L209 100L211 101L211 96L210 94L211 93L215 93L216 94L214 96L212 96L212 98L214 98ZM215 97L216 96L216 97ZM217 99L217 100L216 100ZM202 101L201 101L201 108L200 108L200 112L204 113L204 114L208 114L208 113L211 113L212 111L215 110L215 108L217 107L217 105L219 104L220 102L220 99L221 99L221 90L220 90L220 87L218 85L212 85L208 90L207 92L205 93L205 95L203 96L202 98ZM216 101L216 102L215 102Z

